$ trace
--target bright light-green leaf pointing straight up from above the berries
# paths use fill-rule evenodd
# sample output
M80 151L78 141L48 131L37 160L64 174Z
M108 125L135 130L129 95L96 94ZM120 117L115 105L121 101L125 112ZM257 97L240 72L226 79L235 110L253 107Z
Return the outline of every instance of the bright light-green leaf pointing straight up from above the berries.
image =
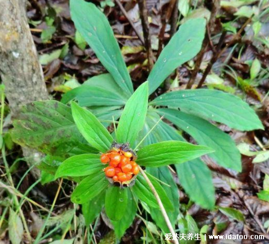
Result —
M148 105L148 83L138 87L127 101L117 127L117 142L134 146L139 131L143 128Z

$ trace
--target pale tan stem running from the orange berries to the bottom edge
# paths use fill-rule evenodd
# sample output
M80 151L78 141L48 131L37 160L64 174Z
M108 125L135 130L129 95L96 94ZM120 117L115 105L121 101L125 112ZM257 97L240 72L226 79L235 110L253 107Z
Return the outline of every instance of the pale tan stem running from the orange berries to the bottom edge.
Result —
M157 202L158 202L158 204L160 206L162 215L164 216L164 219L165 219L165 222L166 222L166 224L167 224L167 226L169 228L169 231L171 232L172 236L176 236L176 232L174 231L174 228L173 228L173 226L172 226L172 224L170 222L170 219L169 219L169 217L167 215L167 212L166 212L166 210L164 208L164 205L163 205L163 203L161 201L160 196L158 195L158 193L157 193L155 187L152 185L151 181L148 179L148 177L147 177L146 173L144 172L144 170L139 165L138 165L138 167L139 167L139 170L140 170L142 176L145 178L147 184L149 185L152 193L156 197L156 200L157 200ZM175 244L179 244L178 240L173 240L173 241L174 241Z

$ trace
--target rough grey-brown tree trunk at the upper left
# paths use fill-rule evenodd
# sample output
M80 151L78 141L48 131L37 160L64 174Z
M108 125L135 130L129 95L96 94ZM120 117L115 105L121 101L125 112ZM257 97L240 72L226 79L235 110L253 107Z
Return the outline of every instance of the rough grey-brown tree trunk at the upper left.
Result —
M21 105L48 98L25 6L25 0L0 0L0 77L13 118ZM23 152L30 161L39 158L30 149Z

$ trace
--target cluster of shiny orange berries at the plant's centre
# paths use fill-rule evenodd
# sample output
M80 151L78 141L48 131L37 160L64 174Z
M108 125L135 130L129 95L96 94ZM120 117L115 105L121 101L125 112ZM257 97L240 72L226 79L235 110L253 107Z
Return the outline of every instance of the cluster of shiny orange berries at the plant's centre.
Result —
M133 159L132 152L121 149L113 149L100 157L102 163L109 163L109 166L105 168L105 175L112 178L114 182L120 183L130 181L139 173L138 165Z

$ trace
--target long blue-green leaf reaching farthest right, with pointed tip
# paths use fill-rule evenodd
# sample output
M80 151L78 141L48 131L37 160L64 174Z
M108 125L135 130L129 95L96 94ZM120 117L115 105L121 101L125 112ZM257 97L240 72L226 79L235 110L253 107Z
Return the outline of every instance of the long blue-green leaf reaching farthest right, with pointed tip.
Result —
M221 91L196 89L169 92L150 104L180 108L182 112L221 122L242 131L264 129L259 117L246 102Z

